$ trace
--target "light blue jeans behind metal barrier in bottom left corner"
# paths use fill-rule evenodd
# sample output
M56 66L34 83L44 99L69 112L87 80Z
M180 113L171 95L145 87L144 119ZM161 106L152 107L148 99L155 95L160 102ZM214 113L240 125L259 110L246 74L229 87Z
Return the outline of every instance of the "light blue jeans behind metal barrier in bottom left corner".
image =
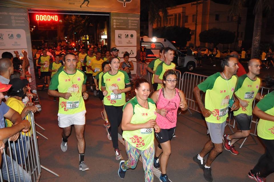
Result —
M14 174L15 174L15 179L13 179L13 173L12 173L12 166L11 166L11 158L6 155L7 157L7 164L8 164L8 169L9 169L9 177L11 181L19 181L19 176L20 176L20 180L24 181L24 177L25 177L25 181L31 181L31 176L29 175L29 173L27 173L27 171L25 171L20 165L18 165L18 169L19 169L19 174L17 171L17 164L16 161L13 160L13 169L14 169ZM7 173L7 169L6 169L6 163L5 163L5 156L4 154L2 154L2 175L3 175L3 179L8 181L8 173ZM24 177L23 177L23 173L24 173Z

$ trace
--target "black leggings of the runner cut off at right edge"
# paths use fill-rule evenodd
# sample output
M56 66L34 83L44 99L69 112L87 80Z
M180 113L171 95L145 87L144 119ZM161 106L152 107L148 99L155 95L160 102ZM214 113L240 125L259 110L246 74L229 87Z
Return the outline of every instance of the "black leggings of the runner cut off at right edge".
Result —
M266 140L260 138L265 145L265 153L260 157L259 161L252 169L252 172L260 172L260 177L267 177L274 172L274 140Z

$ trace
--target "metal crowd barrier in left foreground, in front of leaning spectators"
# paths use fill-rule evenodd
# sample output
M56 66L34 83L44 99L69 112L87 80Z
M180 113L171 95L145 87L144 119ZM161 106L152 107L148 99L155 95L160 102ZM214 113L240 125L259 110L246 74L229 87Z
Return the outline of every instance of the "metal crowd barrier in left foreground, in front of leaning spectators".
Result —
M28 113L32 135L22 135L16 142L7 141L3 149L3 159L0 169L1 182L5 181L39 181L41 164L37 143L34 115ZM16 147L18 146L18 149ZM19 165L19 164L20 165Z

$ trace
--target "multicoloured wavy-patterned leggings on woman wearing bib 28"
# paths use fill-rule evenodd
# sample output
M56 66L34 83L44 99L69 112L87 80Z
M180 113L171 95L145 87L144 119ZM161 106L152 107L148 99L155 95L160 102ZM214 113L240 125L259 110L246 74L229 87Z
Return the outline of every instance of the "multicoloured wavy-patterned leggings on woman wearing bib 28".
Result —
M125 161L123 169L135 169L138 163L139 157L141 155L143 161L143 169L145 172L145 181L153 181L153 159L154 159L154 143L146 150L138 150L133 147L125 140L126 154L128 155L128 160ZM141 180L137 180L141 181Z

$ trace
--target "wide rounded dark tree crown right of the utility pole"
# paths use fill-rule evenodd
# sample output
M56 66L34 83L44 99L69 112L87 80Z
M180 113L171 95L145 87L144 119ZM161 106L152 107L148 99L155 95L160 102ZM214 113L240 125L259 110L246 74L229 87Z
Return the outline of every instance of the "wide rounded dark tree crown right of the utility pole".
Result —
M199 34L200 42L218 44L230 44L235 40L235 34L228 30L208 29Z

